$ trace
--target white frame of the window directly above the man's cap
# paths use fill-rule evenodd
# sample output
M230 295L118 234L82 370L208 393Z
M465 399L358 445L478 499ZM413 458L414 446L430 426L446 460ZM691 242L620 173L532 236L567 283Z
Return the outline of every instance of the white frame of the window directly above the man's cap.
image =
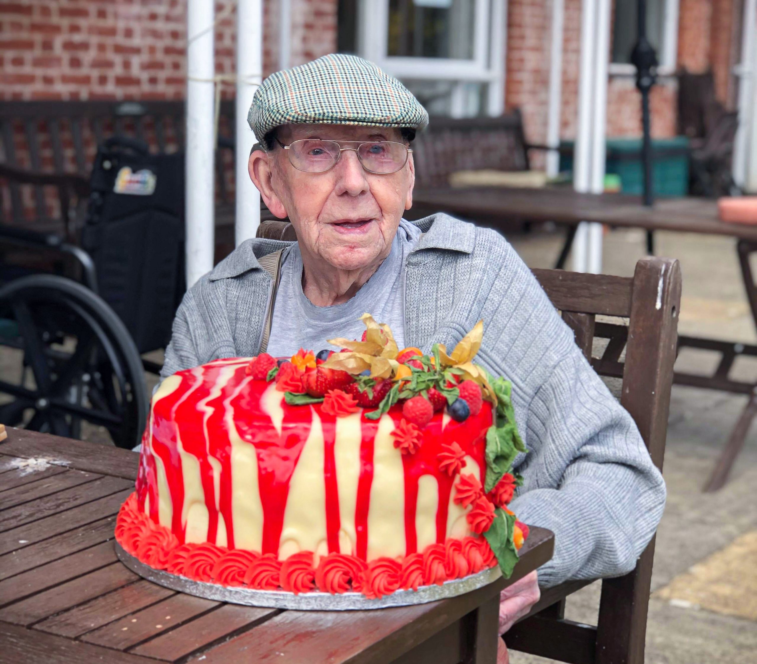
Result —
M488 83L487 111L500 115L504 110L506 0L471 2L475 2L472 60L389 56L389 0L360 0L357 51L398 79L455 81L451 99L453 116L465 114L466 83Z

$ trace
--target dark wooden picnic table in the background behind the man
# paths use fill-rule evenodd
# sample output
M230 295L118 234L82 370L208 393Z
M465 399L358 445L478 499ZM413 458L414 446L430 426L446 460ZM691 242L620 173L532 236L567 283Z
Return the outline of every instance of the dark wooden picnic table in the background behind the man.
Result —
M565 264L575 228L580 222L599 222L621 228L643 228L646 231L734 237L737 240L737 260L746 298L757 327L757 285L749 265L749 256L757 253L757 225L721 222L714 200L659 198L650 208L641 204L640 197L625 194L578 194L567 187L439 188L413 192L413 209L408 213L410 219L419 219L438 211L471 219L500 231L512 228L512 225L507 226L512 224L512 219L565 225L568 233L556 264L560 269ZM715 352L720 358L709 375L677 371L675 383L743 394L748 398L706 483L706 491L716 491L725 484L728 473L746 442L752 420L757 416L757 383L731 376L738 358L757 357L757 346L734 343L731 340L679 336L678 349L684 347Z

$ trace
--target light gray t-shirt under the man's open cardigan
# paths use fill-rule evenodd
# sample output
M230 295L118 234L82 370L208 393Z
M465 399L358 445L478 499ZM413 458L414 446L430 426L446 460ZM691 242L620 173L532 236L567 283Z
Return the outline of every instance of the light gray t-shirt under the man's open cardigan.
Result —
M378 323L391 327L397 346L405 340L405 261L415 248L420 229L400 220L391 251L374 275L347 302L334 306L316 306L302 290L302 255L297 244L283 257L281 281L273 308L273 322L268 342L270 355L288 357L299 349L338 350L327 339L360 339L366 326L360 316L368 312Z

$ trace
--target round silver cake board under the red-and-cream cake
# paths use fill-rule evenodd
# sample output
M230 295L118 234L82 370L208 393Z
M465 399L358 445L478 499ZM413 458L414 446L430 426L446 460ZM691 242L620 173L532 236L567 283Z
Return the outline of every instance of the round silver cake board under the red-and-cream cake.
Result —
M484 569L478 574L471 574L463 579L445 581L442 585L422 585L417 591L398 590L379 599L371 600L362 593L346 592L330 594L325 592L308 592L294 594L287 591L255 590L193 581L185 576L171 574L161 569L154 569L140 562L132 554L124 551L116 542L116 554L121 562L132 572L139 574L157 585L176 590L206 600L246 604L249 607L266 607L272 609L294 609L298 611L354 611L367 609L386 609L388 607L407 607L411 604L425 604L456 597L477 588L482 588L502 576L499 566Z

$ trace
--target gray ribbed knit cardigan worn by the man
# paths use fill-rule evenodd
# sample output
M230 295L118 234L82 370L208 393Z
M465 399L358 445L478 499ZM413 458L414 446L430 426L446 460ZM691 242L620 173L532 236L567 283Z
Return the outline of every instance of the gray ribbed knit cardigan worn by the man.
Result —
M631 416L609 393L572 331L507 241L444 214L407 259L405 340L453 348L484 319L478 363L512 381L528 445L512 510L555 533L540 585L630 571L655 532L665 483ZM247 240L184 296L162 375L215 358L257 355L271 279L257 258L288 246Z

